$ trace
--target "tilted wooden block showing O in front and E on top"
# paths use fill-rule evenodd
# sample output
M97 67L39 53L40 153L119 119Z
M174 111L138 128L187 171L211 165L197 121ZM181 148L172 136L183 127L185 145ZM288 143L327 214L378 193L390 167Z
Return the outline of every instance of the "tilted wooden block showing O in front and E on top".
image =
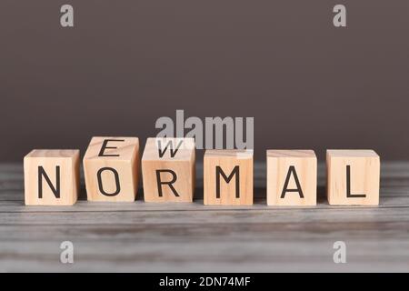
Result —
M135 201L138 160L137 137L93 137L84 156L88 200Z

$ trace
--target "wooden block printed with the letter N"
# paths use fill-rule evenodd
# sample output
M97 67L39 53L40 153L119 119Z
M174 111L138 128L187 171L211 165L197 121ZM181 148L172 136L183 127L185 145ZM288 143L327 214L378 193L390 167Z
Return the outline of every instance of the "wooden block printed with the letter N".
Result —
M24 160L26 206L72 206L79 192L79 150L35 149Z

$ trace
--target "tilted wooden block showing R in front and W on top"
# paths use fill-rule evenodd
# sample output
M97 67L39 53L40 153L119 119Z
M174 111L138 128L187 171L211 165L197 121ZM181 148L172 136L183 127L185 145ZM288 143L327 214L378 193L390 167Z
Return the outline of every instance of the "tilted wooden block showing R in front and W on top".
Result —
M195 139L148 138L142 156L146 202L192 202Z

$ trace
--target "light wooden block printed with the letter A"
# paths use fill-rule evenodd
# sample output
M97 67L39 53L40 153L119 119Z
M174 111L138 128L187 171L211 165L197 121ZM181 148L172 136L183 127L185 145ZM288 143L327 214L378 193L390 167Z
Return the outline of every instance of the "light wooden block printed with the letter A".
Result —
M313 150L267 150L267 205L316 205Z

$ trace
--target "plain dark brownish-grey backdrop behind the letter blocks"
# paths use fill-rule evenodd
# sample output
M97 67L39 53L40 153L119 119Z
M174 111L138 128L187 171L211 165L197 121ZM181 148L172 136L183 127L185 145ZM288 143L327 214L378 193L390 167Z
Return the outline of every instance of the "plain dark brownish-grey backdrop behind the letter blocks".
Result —
M75 28L59 24L65 3ZM92 135L145 144L176 109L254 116L258 160L354 147L408 159L408 28L407 0L2 0L0 160L84 154Z

